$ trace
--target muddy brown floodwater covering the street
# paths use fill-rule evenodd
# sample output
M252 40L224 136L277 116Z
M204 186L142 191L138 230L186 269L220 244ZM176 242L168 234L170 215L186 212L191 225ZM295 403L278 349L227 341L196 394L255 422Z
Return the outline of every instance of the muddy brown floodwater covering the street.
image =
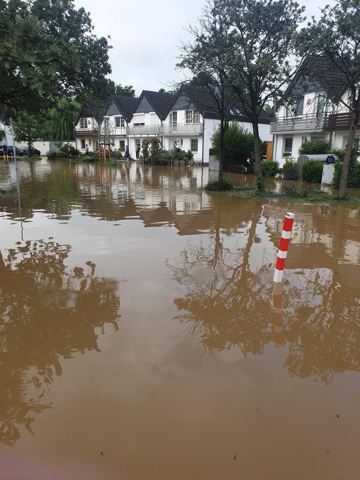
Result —
M1 480L360 478L359 208L206 179L0 163Z

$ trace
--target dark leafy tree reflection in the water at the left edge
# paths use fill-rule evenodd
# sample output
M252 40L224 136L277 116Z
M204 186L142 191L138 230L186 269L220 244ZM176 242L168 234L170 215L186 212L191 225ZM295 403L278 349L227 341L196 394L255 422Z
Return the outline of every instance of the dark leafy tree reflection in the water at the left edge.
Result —
M21 425L31 431L60 359L99 351L97 328L118 329L118 282L95 276L95 265L67 270L70 246L26 242L0 252L2 378L0 440L13 445Z

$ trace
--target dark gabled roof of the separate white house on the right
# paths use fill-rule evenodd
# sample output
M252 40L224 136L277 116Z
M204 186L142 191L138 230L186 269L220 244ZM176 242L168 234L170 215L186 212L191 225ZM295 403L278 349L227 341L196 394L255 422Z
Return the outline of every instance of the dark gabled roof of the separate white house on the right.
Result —
M331 100L339 101L346 91L345 76L330 58L308 55L303 59L284 97L291 96L291 92L303 94L320 90L325 91Z

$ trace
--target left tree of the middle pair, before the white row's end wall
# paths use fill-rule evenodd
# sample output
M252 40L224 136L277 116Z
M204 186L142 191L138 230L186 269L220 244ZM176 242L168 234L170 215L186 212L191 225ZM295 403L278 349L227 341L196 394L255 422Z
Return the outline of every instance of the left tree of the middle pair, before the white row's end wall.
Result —
M234 98L230 90L229 58L233 45L229 38L229 22L219 8L218 0L209 0L198 18L199 27L189 27L193 42L181 46L178 68L188 68L211 98L220 118L219 179L223 177L224 137L229 124ZM195 85L198 85L194 82Z

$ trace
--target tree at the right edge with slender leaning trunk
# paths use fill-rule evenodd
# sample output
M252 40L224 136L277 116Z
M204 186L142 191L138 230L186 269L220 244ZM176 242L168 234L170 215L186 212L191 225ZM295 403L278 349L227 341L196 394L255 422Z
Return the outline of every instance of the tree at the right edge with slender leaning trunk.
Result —
M299 38L301 53L325 56L332 70L342 74L341 93L338 103L350 113L349 137L341 171L338 197L346 194L347 177L357 124L360 117L360 4L358 0L336 0L321 10L321 18L312 19L301 31ZM347 95L342 96L343 89Z

